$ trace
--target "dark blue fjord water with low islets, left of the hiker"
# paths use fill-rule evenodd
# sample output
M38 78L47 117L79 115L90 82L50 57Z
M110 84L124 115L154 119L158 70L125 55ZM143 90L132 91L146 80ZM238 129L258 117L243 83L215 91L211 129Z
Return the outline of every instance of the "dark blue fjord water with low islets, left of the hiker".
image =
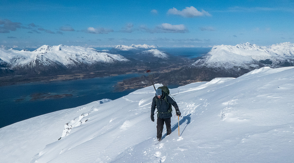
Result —
M119 81L136 76L140 74L0 87L0 128L31 117L85 105L96 100L104 98L115 100L123 97L134 89L115 92L113 86ZM42 98L64 94L67 96L63 98ZM34 98L39 99L34 100Z

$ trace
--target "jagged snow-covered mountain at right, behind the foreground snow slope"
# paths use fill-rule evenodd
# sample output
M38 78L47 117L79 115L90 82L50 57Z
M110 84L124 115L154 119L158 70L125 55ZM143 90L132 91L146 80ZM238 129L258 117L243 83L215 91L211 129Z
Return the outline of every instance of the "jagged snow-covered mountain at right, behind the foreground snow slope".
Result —
M244 43L236 46L214 46L203 59L193 63L196 67L209 68L245 68L253 70L263 66L293 66L294 56L291 43L280 43L270 48Z

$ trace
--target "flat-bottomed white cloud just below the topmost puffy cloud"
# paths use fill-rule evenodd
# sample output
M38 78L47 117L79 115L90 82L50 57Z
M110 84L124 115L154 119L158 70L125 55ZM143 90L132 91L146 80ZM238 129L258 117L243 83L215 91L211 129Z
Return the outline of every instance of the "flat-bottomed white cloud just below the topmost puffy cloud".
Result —
M154 29L150 29L145 25L140 26L140 29L149 33L186 33L187 28L183 24L171 25L169 23L162 23Z

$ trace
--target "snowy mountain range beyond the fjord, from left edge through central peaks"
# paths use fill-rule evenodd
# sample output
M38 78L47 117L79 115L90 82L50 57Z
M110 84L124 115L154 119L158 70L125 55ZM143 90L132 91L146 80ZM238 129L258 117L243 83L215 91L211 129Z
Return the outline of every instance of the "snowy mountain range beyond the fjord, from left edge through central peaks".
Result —
M119 68L130 64L133 66L138 64L136 60L148 63L165 61L170 58L167 53L154 48L157 46L146 44L118 45L111 50L102 51L66 45L44 45L35 51L0 48L0 76L9 75L12 72L20 75L54 75L95 71L105 69L105 67Z

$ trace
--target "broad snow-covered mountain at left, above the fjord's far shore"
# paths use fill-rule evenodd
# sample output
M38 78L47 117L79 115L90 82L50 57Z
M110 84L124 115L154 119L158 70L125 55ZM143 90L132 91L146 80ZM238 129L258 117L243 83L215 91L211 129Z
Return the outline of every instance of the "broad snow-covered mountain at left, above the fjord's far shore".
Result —
M98 52L80 46L44 45L35 51L0 49L1 65L15 69L67 69L93 64L128 62L119 54Z

